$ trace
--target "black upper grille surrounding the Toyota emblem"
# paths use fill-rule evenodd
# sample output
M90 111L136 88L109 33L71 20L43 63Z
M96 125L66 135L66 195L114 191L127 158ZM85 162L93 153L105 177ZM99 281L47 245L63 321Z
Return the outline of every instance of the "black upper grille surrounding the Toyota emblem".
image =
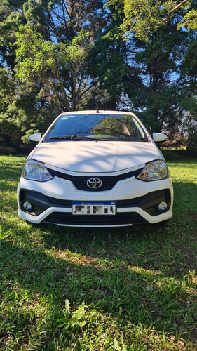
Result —
M62 173L62 172L57 172L54 171L53 169L48 168L48 171L50 174L53 176L57 176L59 178L62 178L64 180L69 180L74 184L76 189L78 190L84 190L86 192L104 192L106 190L111 190L116 183L120 180L125 180L128 178L131 178L133 176L138 176L140 172L142 171L143 168L137 169L133 172L127 172L120 174L118 176L98 176L96 178L99 178L102 181L102 186L99 188L90 188L87 185L87 180L90 178L94 178L93 176L71 176L70 174Z

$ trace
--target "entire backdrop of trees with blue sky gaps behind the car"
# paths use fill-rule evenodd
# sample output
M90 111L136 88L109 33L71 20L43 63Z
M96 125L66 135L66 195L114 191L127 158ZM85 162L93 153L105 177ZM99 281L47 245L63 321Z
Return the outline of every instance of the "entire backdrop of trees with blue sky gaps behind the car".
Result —
M3 0L0 34L1 151L97 101L193 139L196 0Z

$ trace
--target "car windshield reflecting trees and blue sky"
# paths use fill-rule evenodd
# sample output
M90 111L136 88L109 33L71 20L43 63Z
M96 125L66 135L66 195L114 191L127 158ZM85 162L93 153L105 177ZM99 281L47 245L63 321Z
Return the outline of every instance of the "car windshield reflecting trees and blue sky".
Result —
M50 127L44 141L57 140L149 141L130 114L63 114Z

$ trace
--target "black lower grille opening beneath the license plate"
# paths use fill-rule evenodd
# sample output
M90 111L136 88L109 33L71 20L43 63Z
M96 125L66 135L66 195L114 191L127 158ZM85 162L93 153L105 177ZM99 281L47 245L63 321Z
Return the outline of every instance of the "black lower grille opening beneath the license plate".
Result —
M43 221L44 223L58 224L58 225L80 225L81 227L90 225L133 225L147 223L146 220L138 213L116 213L114 216L82 216L72 215L72 213L53 212Z

